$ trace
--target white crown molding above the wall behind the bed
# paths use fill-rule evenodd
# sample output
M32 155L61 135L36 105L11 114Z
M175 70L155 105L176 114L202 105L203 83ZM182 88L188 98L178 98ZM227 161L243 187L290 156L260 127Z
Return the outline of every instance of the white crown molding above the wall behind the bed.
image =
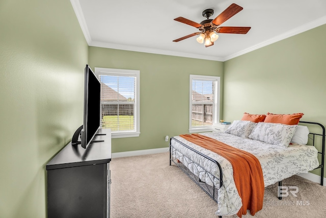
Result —
M227 60L230 60L232 58L235 58L235 57L238 57L240 55L244 55L246 53L249 53L249 52L252 52L252 51L255 51L257 49L260 49L261 47L264 47L266 45L269 45L269 44L273 44L275 42L278 42L278 41L281 41L283 39L286 39L286 38L289 38L291 36L295 36L297 34L300 34L300 33L303 33L303 32L306 32L308 30L311 30L311 29L314 29L316 27L319 27L321 25L324 25L326 23L326 16L323 16L323 17L320 17L316 20L313 20L309 23L306 23L305 25L302 25L298 28L294 28L288 32L285 32L284 34L281 34L281 35L278 35L274 38L271 38L271 39L268 39L262 43L258 43L252 47L249 47L248 49L245 49L245 50L242 50L240 52L237 52L235 54L232 54L232 55L229 55L227 57L225 57L223 59L223 61L227 61Z

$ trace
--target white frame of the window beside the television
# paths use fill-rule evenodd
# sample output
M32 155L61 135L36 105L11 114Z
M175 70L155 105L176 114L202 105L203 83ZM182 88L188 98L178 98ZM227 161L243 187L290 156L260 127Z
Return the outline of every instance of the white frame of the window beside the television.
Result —
M140 135L140 70L95 67L95 75L97 76L97 78L99 78L99 75L124 76L124 77L131 76L136 78L135 113L134 113L134 119L136 120L135 130L111 132L111 137L112 138L138 137Z

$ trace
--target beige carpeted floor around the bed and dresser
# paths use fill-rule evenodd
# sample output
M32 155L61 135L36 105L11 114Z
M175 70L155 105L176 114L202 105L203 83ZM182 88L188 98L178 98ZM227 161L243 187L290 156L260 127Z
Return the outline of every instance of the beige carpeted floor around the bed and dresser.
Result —
M111 168L111 217L218 217L216 203L177 166L169 153L115 158ZM277 184L265 188L263 209L242 217L326 217L326 187L293 176L297 197L277 198ZM236 215L224 216L236 218Z

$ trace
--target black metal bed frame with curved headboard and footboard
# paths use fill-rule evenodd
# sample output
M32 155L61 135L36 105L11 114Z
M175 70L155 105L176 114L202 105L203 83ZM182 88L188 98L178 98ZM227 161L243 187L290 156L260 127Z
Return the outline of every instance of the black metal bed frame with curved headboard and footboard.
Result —
M317 168L321 169L321 174L320 174L320 185L323 185L323 177L324 177L324 156L325 156L325 127L319 123L315 123L315 122L305 122L305 121L300 121L299 123L302 124L312 124L312 125L318 125L321 127L322 129L322 134L317 134L317 133L309 133L309 135L312 135L312 137L310 138L312 140L312 144L310 144L311 146L315 147L315 136L321 136L322 137L322 142L321 142L321 152L318 150L318 154L321 154L321 163L319 164L319 166ZM219 169L220 169L220 177L215 177L214 175L212 175L211 173L209 173L203 166L201 166L199 163L197 163L196 161L192 160L190 157L182 154L182 152L180 152L179 150L177 150L175 147L172 146L171 141L175 140L178 143L182 144L182 146L186 147L189 150L192 150L193 152L199 154L200 156L202 156L203 158L208 159L209 161L215 163L216 165L218 165ZM205 175L209 175L209 177L206 178L212 178L211 182L212 182L212 186L206 184L205 182L201 181L200 178L198 178L196 175L194 175L186 166L184 166L177 157L173 157L172 152L173 149L178 151L182 156L186 157L186 159L184 159L185 161L187 161L187 164L195 164L198 168L201 169L201 173L205 173ZM191 178L200 188L202 188L207 195L212 198L216 203L218 203L218 189L219 187L223 186L223 173L222 173L222 167L220 165L220 163L198 151L196 151L195 149L188 147L186 144L182 143L181 141L175 139L174 137L170 138L170 166L171 163L174 163L176 166L178 166L189 178ZM317 169L315 168L315 169ZM219 186L215 186L214 180L218 180L219 181ZM279 181L279 186L282 186L282 181ZM279 195L278 195L279 196ZM280 200L282 200L282 197L278 197ZM222 216L219 216L219 218L222 218Z

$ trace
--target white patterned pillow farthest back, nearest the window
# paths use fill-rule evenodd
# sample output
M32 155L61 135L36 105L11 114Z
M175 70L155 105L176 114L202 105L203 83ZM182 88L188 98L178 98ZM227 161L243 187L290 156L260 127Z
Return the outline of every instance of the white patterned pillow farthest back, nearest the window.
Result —
M242 138L248 138L249 134L255 128L256 125L257 123L253 123L248 120L234 120L225 132L232 135L240 136Z

